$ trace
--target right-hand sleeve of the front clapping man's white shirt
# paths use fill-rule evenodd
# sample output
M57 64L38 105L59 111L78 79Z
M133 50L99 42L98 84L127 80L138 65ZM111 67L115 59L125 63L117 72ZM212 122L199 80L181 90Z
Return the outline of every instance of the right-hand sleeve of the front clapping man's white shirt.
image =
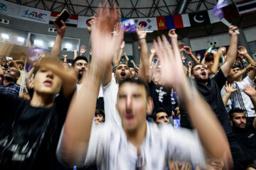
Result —
M174 130L171 125L164 125L161 129L163 138L166 137L167 158L168 160L183 160L205 166L203 147L196 131Z

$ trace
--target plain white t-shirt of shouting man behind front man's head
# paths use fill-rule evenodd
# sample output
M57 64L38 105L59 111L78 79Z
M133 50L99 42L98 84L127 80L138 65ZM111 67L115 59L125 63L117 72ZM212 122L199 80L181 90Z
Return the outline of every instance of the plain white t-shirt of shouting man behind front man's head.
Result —
M104 97L105 123L110 123L110 125L116 124L119 127L122 127L121 118L116 108L119 84L116 83L114 74L112 74L110 83L102 89Z

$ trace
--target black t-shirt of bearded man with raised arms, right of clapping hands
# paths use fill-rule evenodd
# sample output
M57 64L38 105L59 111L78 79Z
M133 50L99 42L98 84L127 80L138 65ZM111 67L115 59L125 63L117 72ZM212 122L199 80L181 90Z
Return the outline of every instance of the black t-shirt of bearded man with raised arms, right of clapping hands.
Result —
M202 94L203 98L205 98L207 103L210 105L210 108L213 109L215 115L220 121L220 124L223 126L226 135L231 135L233 133L233 130L228 118L228 113L225 110L225 106L220 95L220 90L223 88L226 80L227 78L224 76L222 70L220 69L213 79L208 79L207 85L196 81L196 86L198 91ZM181 124L183 124L183 122L186 122L186 126L189 126L188 124L190 123L187 122L186 111L183 109L182 103L180 106L180 110Z

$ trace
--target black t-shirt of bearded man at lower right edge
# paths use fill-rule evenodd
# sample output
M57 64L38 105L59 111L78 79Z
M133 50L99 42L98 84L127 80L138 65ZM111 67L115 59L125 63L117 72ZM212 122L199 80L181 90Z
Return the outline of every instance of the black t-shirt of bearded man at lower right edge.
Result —
M233 128L238 144L245 153L246 159L256 159L256 130L253 125L248 125L244 130Z

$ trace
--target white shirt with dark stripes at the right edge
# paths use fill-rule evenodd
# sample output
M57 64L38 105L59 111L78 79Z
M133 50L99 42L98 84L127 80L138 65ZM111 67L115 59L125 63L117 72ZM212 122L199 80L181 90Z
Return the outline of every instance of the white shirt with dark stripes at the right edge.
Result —
M241 108L245 112L245 117L255 117L255 108L253 103L247 94L243 91L246 86L252 86L253 80L251 80L248 76L242 81L234 81L233 88L237 89L233 94L231 94L230 98L233 103L233 108Z

